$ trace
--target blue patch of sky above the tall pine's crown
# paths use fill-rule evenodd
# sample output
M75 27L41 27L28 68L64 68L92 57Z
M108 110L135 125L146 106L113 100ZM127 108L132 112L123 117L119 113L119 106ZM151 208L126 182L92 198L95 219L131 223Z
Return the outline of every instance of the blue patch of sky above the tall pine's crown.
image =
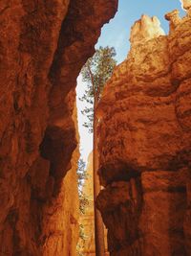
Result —
M142 14L158 16L162 29L168 34L169 22L164 19L164 14L175 9L180 10L180 15L183 15L179 0L119 0L118 12L115 18L103 27L96 47L114 46L117 61L121 62L130 47L131 27Z

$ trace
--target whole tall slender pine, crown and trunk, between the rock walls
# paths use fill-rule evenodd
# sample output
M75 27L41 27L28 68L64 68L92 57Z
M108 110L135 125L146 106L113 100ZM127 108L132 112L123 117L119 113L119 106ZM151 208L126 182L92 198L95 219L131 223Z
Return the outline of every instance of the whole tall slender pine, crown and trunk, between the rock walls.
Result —
M117 64L116 51L114 47L99 47L95 55L89 58L82 68L81 74L83 81L87 82L87 90L82 97L90 106L86 106L83 113L87 116L88 122L84 124L90 132L93 132L93 176L94 176L94 201L95 201L95 238L96 238L96 256L105 255L104 229L99 211L96 209L96 197L100 191L99 178L97 175L97 117L96 106L101 98L103 87L112 76L113 70Z

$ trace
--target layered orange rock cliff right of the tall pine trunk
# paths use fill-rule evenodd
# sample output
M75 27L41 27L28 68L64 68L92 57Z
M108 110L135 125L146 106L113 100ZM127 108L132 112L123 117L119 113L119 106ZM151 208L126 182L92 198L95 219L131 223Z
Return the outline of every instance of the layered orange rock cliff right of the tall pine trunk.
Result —
M97 108L96 203L112 256L191 255L191 18L146 20Z

